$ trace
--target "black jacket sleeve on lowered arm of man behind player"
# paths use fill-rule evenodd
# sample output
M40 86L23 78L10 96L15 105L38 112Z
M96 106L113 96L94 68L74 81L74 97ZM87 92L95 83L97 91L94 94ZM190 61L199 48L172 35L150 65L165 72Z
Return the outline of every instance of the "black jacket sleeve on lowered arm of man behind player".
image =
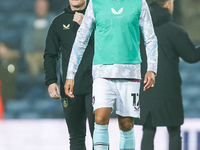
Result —
M45 84L49 86L52 83L57 83L57 61L59 58L59 37L56 34L56 26L54 22L51 24L44 51L44 72Z

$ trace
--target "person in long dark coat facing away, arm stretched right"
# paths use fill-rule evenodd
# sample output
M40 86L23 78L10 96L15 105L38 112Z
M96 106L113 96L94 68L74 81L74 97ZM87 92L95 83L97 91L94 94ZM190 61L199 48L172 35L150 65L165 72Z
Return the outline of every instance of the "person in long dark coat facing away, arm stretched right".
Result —
M169 150L181 150L183 105L179 57L189 63L200 60L200 47L195 48L186 31L172 21L174 0L154 0L150 4L155 34L158 38L158 72L155 87L140 91L141 113L135 124L143 125L141 150L154 149L157 126L169 132ZM146 71L146 53L141 45L142 77Z

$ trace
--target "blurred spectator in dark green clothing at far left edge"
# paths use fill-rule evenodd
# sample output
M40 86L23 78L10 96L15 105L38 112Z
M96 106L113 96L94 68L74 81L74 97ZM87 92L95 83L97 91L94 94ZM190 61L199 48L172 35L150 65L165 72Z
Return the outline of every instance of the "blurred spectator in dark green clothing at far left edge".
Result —
M12 49L7 43L0 43L0 80L4 104L7 100L15 98L16 70L19 58L19 51Z

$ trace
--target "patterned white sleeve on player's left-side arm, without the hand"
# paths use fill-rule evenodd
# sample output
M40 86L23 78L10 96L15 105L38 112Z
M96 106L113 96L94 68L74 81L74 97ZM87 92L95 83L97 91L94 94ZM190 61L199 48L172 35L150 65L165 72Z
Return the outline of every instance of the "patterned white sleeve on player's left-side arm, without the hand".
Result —
M83 53L88 45L90 36L92 34L94 22L95 19L92 8L92 1L89 1L82 24L80 25L77 31L77 35L72 46L66 77L67 79L74 79L75 77L75 74L78 70L78 66L82 60Z

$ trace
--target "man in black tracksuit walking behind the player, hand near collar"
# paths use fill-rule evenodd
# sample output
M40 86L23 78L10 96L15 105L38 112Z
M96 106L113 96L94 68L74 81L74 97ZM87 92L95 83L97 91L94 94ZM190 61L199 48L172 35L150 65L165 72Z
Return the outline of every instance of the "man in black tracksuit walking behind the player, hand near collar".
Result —
M91 136L94 130L92 107L92 60L93 38L90 38L83 61L76 75L74 87L75 98L65 95L64 84L68 61L76 32L86 10L86 0L69 0L64 12L52 22L44 52L45 84L51 98L62 97L64 115L70 135L70 150L85 150L86 118L89 120ZM57 61L60 57L60 90L57 85Z

